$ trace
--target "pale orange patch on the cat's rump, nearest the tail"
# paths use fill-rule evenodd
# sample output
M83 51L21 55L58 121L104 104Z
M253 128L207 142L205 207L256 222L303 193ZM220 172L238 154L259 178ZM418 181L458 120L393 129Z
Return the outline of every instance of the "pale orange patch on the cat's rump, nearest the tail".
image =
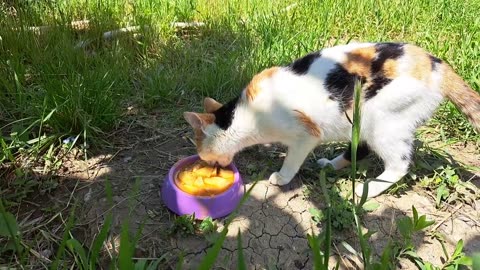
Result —
M421 48L413 45L405 45L405 53L414 62L410 69L410 75L421 81L429 81L432 72L432 61L428 54Z

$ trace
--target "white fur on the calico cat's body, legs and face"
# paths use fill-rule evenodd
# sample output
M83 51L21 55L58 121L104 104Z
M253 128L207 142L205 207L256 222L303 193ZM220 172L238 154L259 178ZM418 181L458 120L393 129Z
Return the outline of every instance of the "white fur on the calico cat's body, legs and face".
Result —
M260 83L261 91L252 102L247 102L244 90L232 125L226 131L215 125L205 131L214 134L205 142L212 147L214 158L226 163L245 147L282 143L288 147L288 154L282 168L270 176L270 181L285 185L320 142L351 140L351 124L338 102L329 98L324 80L338 62L345 60L348 51L371 45L360 43L324 49L322 57L315 60L304 75L280 68ZM409 61L411 59L400 58L399 77L364 102L361 109L361 140L385 163L385 171L377 177L383 182L369 183L369 197L385 191L407 173L409 159L404 156L410 156L414 131L442 100L439 91L442 74L436 71L429 82L419 81L408 75ZM310 135L299 123L294 110L309 116L318 125L321 135ZM319 164L332 164L340 169L350 162L340 155L332 161L321 159ZM357 192L361 195L362 186Z

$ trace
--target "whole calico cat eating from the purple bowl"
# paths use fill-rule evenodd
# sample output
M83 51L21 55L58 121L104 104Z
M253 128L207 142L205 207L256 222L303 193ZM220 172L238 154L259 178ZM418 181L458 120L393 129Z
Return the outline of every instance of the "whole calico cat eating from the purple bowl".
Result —
M201 159L225 166L235 153L278 142L288 147L282 168L270 183L286 185L321 142L350 141L355 82L362 83L361 144L357 158L370 150L385 170L368 187L374 197L407 172L415 129L431 117L444 97L480 131L480 95L444 61L405 43L354 43L326 48L255 75L241 94L225 105L205 98L205 113L185 112ZM332 160L350 164L350 148ZM357 187L359 196L363 186Z

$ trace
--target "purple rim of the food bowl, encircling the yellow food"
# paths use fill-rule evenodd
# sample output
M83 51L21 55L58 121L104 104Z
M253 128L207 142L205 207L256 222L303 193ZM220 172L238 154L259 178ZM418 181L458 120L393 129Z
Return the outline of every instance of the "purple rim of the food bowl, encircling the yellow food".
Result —
M222 193L219 193L219 194L216 194L216 195L213 195L213 196L201 196L201 195L192 195L190 193L187 193L183 190L181 190L179 187L177 187L177 185L175 184L175 173L181 168L181 167L184 167L186 165L189 165L197 160L200 159L200 156L198 154L195 154L195 155L191 155L191 156L188 156L188 157L184 157L180 160L178 160L177 162L175 162L175 164L173 164L172 167L170 167L170 170L168 171L168 179L167 181L170 182L170 184L172 185L172 188L175 190L175 192L180 192L182 193L183 195L187 196L187 197L191 197L191 198L199 198L199 199L215 199L217 197L220 197L220 196L223 196L225 195L229 190L231 190L232 188L234 188L235 186L241 186L241 185L236 185L236 183L240 182L241 181L241 178L240 178L240 172L238 171L237 167L235 166L234 162L232 161L232 163L230 163L227 167L229 169L231 169L233 171L233 184L227 188L225 191L223 191ZM185 163L185 164L182 164L182 163ZM180 167L180 164L182 164L182 166Z

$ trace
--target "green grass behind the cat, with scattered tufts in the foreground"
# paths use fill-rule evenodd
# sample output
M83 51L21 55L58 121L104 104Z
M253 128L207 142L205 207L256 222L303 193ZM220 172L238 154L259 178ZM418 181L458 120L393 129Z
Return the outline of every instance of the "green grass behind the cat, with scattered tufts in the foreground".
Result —
M50 177L38 180L33 173L38 173L36 167L41 167L42 175L55 174L73 148L82 150L87 158L87 149L95 150L109 143L107 135L123 125L133 112L161 110L164 117L171 119L172 126L183 125L181 112L200 110L203 96L226 101L261 69L287 64L322 47L352 40L411 42L446 60L479 91L479 9L480 2L476 0L3 1L3 220L13 224L8 211L15 212L15 207L31 194L48 193L57 187L56 180ZM89 20L85 29L68 26L84 19ZM192 21L205 25L172 26L174 22ZM29 29L32 26L50 28L38 33ZM107 31L128 26L141 28L113 39L102 38ZM469 142L478 147L480 141L480 136L450 103L442 105L428 128L440 134L438 139L445 143ZM422 184L434 193L439 205L456 198L471 200L468 187L458 183L455 168L422 169L433 174ZM343 202L338 209L351 205ZM353 207L352 211L359 228L357 209ZM327 213L327 220L335 221L336 216L331 214ZM340 221L343 226L342 222L347 221ZM184 220L177 225L180 230L195 231ZM78 265L96 263L95 255L86 251L84 256L78 243L67 242L71 240L67 227L64 237L53 237L57 250L67 251ZM20 241L21 234L11 231L12 228L16 227L2 231L2 237L10 235L8 250L14 252L9 254L16 255L2 256L0 264L12 263L15 257L20 259L16 261L19 263L28 256L22 248L29 246L28 241ZM107 233L102 230L104 234ZM122 239L134 245L135 241L129 242L126 235ZM98 245L97 241L92 254ZM315 249L322 246L325 245L315 244ZM131 253L130 248L124 247L122 254ZM363 254L364 261L369 260L367 255ZM127 258L125 264L130 263Z

